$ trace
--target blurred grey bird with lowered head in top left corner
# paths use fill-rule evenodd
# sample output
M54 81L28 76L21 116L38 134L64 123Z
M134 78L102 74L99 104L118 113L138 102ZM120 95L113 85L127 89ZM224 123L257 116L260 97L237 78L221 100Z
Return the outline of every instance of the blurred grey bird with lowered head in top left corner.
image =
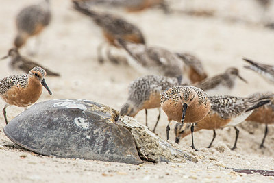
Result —
M20 48L27 38L40 34L51 21L49 0L23 8L16 16L17 35L14 46Z

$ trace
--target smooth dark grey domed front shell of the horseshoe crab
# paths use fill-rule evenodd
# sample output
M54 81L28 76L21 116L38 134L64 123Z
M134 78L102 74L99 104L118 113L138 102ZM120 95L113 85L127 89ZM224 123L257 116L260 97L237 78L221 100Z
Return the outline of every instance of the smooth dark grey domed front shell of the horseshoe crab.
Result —
M140 164L132 134L116 123L119 112L93 101L36 103L4 127L14 143L39 154Z

